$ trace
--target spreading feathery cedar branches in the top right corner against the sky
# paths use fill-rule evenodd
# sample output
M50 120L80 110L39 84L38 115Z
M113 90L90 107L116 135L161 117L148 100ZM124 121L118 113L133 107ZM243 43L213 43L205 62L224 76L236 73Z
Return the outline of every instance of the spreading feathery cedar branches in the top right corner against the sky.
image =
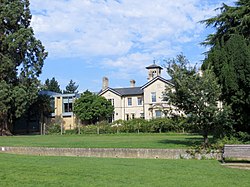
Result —
M235 7L223 4L221 13L215 17L201 21L207 27L214 27L216 32L210 34L203 42L205 45L214 46L217 42L226 42L234 34L239 34L250 42L250 1L238 0Z

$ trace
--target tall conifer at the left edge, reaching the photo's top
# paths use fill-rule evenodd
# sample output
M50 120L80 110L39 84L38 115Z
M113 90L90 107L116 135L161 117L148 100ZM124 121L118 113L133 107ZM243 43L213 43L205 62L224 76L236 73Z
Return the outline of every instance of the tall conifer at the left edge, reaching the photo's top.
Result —
M38 96L38 77L47 56L30 27L28 0L1 0L0 6L0 135L8 134Z

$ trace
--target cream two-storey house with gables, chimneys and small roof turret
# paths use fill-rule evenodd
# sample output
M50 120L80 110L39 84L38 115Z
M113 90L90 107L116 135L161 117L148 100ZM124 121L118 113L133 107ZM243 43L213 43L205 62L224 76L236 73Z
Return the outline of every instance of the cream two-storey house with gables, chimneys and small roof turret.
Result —
M162 67L155 63L146 67L148 82L140 87L135 86L135 80L130 81L129 88L111 88L107 77L103 78L100 96L105 97L114 106L112 121L134 118L152 119L167 115L170 107L164 101L166 86L174 85L161 77Z

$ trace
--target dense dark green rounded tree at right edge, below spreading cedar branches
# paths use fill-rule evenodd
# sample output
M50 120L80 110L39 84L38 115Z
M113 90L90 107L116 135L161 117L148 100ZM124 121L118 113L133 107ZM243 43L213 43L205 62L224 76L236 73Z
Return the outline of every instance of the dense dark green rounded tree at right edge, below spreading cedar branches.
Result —
M232 106L237 131L250 132L250 48L240 35L217 43L202 68L212 66L222 87L221 100Z

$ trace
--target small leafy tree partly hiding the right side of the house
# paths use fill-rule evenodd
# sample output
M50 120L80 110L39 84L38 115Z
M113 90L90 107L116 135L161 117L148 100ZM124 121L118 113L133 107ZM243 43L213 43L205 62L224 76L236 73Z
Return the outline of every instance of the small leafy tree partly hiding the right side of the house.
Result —
M223 127L221 118L228 121L229 115L226 106L225 109L218 107L221 89L217 78L209 68L202 73L197 72L182 54L167 63L174 88L166 88L166 100L185 113L193 128L203 135L207 146L209 133L215 134L216 129ZM225 128L220 129L223 131Z

